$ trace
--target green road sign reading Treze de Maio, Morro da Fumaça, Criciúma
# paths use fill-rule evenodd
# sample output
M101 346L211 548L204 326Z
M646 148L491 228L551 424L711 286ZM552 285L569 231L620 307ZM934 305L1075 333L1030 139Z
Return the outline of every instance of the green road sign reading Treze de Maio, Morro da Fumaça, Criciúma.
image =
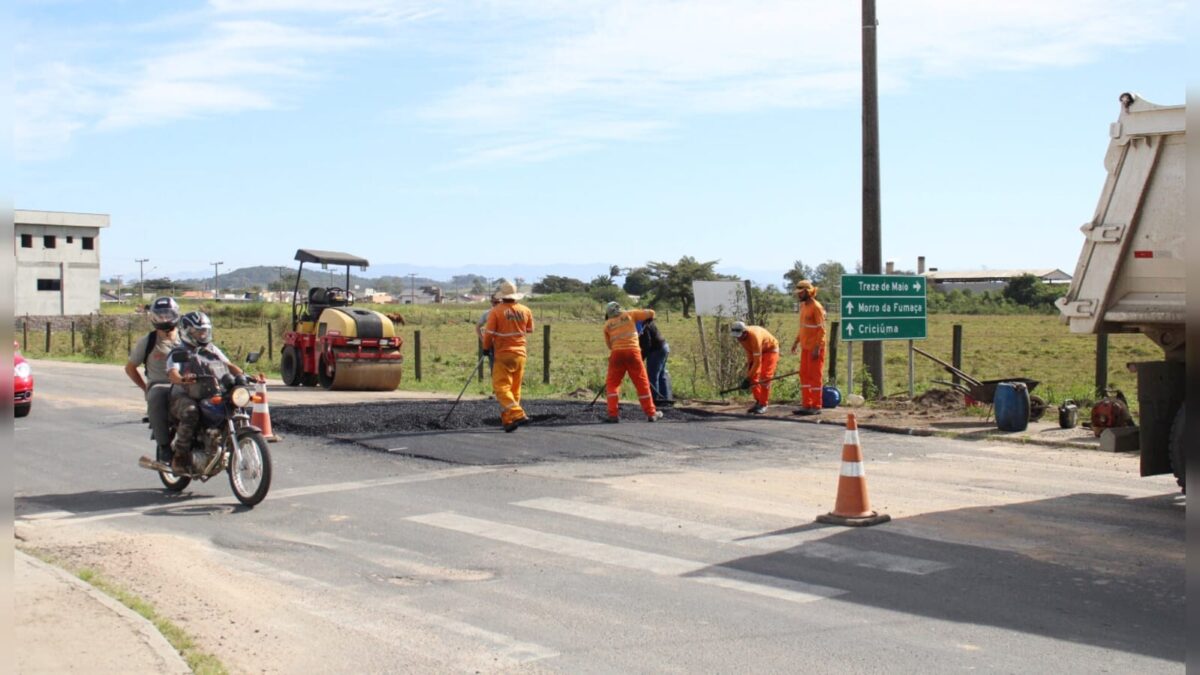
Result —
M847 274L841 277L841 339L924 340L925 277Z

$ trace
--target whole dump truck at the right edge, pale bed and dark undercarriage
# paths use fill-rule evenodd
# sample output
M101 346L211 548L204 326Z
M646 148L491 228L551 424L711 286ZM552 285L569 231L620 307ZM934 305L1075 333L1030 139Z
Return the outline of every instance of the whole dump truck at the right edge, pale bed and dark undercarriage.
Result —
M1104 189L1057 305L1072 333L1141 333L1163 350L1162 360L1130 364L1141 474L1174 473L1186 488L1186 110L1134 94L1120 102Z

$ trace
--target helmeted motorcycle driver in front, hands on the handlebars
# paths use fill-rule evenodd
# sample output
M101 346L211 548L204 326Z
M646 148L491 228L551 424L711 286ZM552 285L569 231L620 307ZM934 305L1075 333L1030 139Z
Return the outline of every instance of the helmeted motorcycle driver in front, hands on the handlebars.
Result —
M174 458L172 471L187 472L191 464L192 436L200 420L199 399L211 395L211 388L205 382L198 382L198 376L216 376L217 381L230 372L242 375L212 344L212 322L202 311L187 312L179 319L180 340L182 345L170 352L167 359L167 377L174 384L170 388L170 414L175 419L175 438L172 442Z

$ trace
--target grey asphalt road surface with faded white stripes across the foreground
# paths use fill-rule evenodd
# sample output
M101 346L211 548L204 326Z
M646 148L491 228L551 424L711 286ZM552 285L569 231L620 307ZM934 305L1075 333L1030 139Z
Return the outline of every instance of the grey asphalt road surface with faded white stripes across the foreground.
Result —
M18 536L235 671L1183 671L1184 498L1132 456L863 432L894 520L858 530L814 524L839 428L378 423L281 434L246 510L137 467L119 369L34 370Z

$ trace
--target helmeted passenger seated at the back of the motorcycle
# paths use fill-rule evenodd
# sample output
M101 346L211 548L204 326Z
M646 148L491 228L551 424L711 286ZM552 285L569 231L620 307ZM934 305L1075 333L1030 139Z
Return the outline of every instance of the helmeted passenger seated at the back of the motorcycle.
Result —
M170 461L170 431L167 414L170 401L170 381L167 378L167 357L172 350L179 347L179 304L174 298L156 298L150 304L148 316L154 330L143 335L133 348L130 350L130 359L125 364L125 375L142 389L146 401L146 417L150 419L150 429L154 431L155 442L158 444L158 461ZM138 372L143 368L145 377Z

